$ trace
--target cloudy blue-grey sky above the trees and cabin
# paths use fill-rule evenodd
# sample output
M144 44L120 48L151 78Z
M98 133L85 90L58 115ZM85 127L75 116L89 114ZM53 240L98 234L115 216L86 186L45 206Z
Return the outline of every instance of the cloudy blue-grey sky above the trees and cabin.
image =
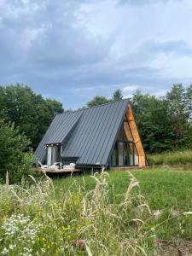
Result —
M192 83L192 0L0 0L0 84L64 108Z

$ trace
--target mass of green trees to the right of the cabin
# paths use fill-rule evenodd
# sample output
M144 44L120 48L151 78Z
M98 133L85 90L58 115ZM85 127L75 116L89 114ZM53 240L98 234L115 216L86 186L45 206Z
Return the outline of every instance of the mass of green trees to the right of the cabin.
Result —
M161 98L136 91L131 103L147 152L192 148L191 98L191 86L182 84Z

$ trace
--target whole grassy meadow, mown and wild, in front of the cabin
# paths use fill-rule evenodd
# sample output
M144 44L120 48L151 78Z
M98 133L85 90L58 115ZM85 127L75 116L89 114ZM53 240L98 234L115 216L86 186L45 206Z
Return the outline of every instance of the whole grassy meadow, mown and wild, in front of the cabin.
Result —
M131 174L0 185L0 253L157 255L157 239L191 239L191 167Z

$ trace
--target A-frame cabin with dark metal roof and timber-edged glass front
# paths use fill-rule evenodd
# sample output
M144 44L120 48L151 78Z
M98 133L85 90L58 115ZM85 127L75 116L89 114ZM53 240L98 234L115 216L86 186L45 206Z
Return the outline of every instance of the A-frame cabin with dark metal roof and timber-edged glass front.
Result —
M48 166L147 166L129 100L56 114L35 154Z

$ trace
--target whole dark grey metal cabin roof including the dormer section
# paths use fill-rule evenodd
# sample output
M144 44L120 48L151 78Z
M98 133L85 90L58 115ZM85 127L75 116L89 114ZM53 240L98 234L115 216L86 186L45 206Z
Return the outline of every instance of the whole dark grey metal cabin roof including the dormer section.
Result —
M129 100L103 104L55 116L36 154L45 154L44 144L63 141L75 126L64 145L61 157L77 157L79 166L107 165ZM70 125L69 125L70 124ZM65 144L65 143L64 143Z

